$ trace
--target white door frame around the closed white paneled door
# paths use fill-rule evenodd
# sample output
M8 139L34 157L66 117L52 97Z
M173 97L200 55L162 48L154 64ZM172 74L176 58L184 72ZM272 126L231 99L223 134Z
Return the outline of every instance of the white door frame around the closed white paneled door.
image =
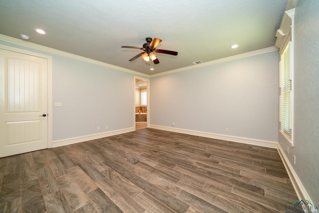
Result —
M11 46L7 46L7 45L3 45L0 44L0 49L4 49L4 50L8 50L8 51L12 51L12 52L18 52L18 53L22 53L22 54L26 54L26 55L32 55L32 56L36 56L39 58L45 58L47 59L48 62L48 67L47 67L47 106L48 106L48 111L47 111L47 122L48 122L48 126L47 126L47 145L48 148L52 148L52 56L49 55L44 55L41 53L37 53L37 52L32 52L32 51L28 51L28 50L24 50L24 49L19 49L19 48L15 48L15 47L11 47Z

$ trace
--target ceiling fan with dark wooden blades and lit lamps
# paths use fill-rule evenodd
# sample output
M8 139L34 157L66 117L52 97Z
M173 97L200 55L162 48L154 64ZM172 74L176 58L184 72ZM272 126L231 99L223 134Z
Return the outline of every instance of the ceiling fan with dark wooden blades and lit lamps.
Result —
M129 61L134 61L138 57L142 56L142 58L145 61L150 61L150 59L152 59L152 61L155 64L158 64L158 63L160 63L160 61L156 57L154 52L156 52L156 53L164 53L164 54L169 54L169 55L177 55L177 52L175 52L175 51L170 51L170 50L165 50L165 49L156 49L157 45L159 45L160 42L161 42L160 38L154 38L152 40L152 38L147 37L146 38L146 43L143 44L143 47L137 47L137 46L121 46L121 47L122 48L142 49L144 51L144 52L141 52L141 53L137 54L136 56L131 58Z

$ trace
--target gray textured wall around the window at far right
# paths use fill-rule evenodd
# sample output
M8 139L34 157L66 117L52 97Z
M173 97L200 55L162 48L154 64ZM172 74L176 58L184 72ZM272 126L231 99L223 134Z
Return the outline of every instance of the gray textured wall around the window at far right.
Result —
M294 147L279 143L313 204L319 204L319 1L299 0L295 10ZM296 165L294 157L296 156Z

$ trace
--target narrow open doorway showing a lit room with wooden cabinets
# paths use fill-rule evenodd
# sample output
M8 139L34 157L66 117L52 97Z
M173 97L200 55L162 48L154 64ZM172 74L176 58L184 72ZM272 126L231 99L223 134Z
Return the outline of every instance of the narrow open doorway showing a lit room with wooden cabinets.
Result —
M144 129L149 126L149 79L135 77L135 105L134 119L135 130Z

